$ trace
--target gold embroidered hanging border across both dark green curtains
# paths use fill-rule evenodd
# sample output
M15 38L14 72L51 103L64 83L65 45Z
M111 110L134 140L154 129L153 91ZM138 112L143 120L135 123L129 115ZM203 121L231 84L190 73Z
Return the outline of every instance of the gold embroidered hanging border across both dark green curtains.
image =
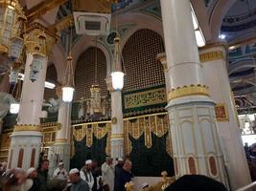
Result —
M105 125L103 125L105 123ZM145 145L147 148L152 146L151 134L154 134L158 138L162 138L166 133L169 132L166 138L166 152L172 157L172 141L171 132L169 131L169 117L167 113L158 113L140 117L128 117L124 118L124 146L125 154L129 155L132 151L131 138L138 139L145 134ZM110 138L111 138L111 121L101 121L92 123L83 123L73 125L72 135L77 141L81 141L85 138L85 144L91 147L93 144L93 136L98 139L106 138L106 155L110 155ZM119 137L121 135L112 135L112 137ZM72 139L72 138L71 138ZM74 155L74 141L72 143L72 156Z

